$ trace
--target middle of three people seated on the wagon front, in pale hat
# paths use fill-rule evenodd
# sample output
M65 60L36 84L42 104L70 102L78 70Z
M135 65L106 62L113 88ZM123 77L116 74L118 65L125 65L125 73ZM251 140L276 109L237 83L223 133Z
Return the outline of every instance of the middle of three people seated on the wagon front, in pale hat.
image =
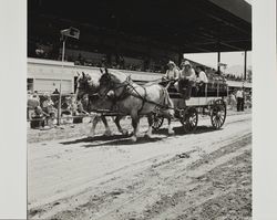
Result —
M185 99L188 99L192 95L192 88L196 81L196 74L188 61L182 62L181 67L178 92L184 95Z

